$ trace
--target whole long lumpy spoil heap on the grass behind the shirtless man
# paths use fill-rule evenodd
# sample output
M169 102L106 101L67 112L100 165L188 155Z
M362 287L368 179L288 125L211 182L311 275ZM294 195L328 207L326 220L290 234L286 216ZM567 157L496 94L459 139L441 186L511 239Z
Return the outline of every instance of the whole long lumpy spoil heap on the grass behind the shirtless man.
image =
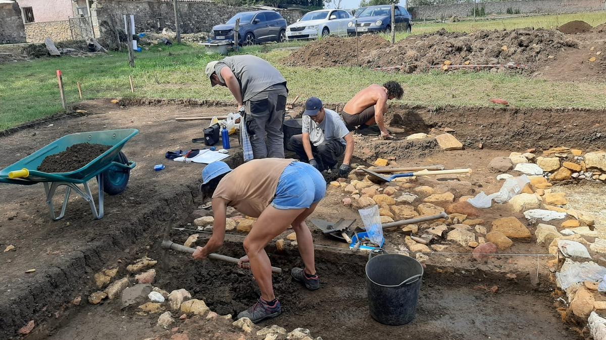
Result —
M535 64L548 60L564 47L577 42L555 30L481 30L474 33L436 33L409 36L391 46L380 36L363 36L356 57L354 38L329 38L314 42L286 57L287 65L327 67L362 65L393 67L406 65L411 73L422 65L502 65Z

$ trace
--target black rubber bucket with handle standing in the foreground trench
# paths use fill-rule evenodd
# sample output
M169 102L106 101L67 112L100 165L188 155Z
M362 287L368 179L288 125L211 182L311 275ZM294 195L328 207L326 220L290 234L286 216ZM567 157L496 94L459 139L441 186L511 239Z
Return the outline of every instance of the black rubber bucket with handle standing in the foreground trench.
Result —
M383 249L368 254L366 290L373 319L386 325L413 321L422 277L423 266L414 258Z

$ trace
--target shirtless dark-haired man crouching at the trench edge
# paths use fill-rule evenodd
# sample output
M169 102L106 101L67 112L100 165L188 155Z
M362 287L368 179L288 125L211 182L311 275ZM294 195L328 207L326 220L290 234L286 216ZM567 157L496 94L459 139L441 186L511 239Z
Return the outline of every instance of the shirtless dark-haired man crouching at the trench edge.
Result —
M397 82L387 82L382 86L378 84L370 85L364 90L356 93L355 96L345 105L341 111L343 120L348 127L358 126L360 134L375 135L381 132L381 137L389 138L389 131L385 128L383 115L387 111L387 100L400 99L404 90ZM378 129L369 126L379 126Z

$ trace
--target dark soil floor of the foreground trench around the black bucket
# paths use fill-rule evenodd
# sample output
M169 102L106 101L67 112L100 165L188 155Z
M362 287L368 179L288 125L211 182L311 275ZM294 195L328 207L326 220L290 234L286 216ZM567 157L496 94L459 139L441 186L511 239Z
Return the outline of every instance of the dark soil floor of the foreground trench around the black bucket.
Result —
M425 269L416 319L402 326L382 325L368 312L367 255L316 250L321 289L310 292L290 278L290 269L302 266L296 247L277 252L269 246L267 251L273 266L284 269L281 275L273 275L282 314L262 322L261 327L303 327L323 339L566 339L573 335L556 317L549 292L508 283L504 276L491 272L441 273L435 266ZM221 253L240 257L243 250L241 244L228 242ZM171 252L165 260L170 269L158 270L155 286L169 292L187 289L219 314L236 315L259 296L248 270L218 261L196 262L183 253ZM499 290L474 290L478 285L498 285Z

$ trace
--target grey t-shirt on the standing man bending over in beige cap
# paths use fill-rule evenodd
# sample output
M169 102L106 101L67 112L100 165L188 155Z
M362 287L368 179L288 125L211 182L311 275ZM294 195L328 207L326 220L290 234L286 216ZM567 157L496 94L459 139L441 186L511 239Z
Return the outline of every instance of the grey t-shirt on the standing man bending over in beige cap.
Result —
M215 65L215 73L221 82L225 82L221 77L221 69L224 67L229 68L238 79L244 102L273 85L286 86L286 79L276 68L267 61L250 54L224 57L219 60Z

